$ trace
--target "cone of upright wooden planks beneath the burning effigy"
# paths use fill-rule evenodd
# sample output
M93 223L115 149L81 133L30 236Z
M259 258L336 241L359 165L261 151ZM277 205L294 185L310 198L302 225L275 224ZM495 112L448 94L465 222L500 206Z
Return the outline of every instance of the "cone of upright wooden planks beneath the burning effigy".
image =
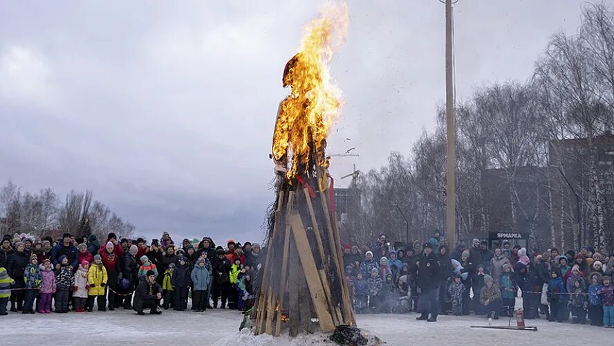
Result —
M312 331L312 318L317 318L322 332L355 325L332 179L329 185L324 167L316 167L314 173L294 181L278 176L255 334L279 336L288 325L290 336L296 336L299 330Z

